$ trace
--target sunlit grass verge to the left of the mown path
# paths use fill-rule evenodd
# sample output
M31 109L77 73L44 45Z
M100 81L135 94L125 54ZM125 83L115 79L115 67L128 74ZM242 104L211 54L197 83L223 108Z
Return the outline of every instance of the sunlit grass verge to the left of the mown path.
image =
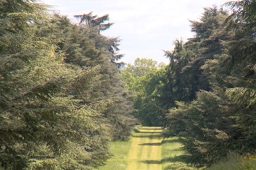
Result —
M113 156L108 159L105 165L99 167L99 170L125 170L130 147L131 139L129 141L111 142L110 151Z

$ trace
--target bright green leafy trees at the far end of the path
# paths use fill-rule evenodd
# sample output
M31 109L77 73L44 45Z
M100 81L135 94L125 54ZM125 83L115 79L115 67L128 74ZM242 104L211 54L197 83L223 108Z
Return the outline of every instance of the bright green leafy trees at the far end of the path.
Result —
M165 67L157 66L157 62L152 59L137 58L134 65L128 64L122 77L126 83L126 87L137 94L133 99L134 113L140 119L143 125L158 126L160 125L161 115L159 107L154 104L154 100L158 97L156 89L163 83Z

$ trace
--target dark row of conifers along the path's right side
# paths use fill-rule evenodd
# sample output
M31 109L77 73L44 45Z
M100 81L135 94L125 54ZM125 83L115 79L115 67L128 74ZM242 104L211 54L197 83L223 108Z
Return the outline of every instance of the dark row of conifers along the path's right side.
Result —
M138 117L150 117L145 125L158 118L164 135L179 136L183 156L196 165L256 150L256 1L225 5L229 12L213 6L190 21L195 36L165 51L169 65L147 80L154 89L140 83L148 93L139 108L148 112L137 110Z

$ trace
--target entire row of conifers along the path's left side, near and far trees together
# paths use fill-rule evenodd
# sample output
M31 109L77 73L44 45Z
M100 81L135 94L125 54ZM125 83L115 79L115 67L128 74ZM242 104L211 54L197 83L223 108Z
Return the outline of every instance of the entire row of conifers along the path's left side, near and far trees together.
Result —
M108 15L75 17L0 0L0 167L89 170L137 123Z

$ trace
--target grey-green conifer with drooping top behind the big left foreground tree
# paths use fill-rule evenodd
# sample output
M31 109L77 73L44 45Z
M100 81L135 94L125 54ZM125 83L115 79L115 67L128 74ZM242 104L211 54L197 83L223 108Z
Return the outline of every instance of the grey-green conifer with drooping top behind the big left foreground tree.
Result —
M118 42L120 40L118 37L108 38L102 36L99 32L88 34L91 29L98 29L99 26L102 28L102 25L104 25L104 29L107 28L105 26L109 25L109 23L104 24L104 22L108 20L108 15L103 17L91 16L91 13L85 15L89 16L89 23L94 24L90 25L88 28L86 23L84 25L84 22L87 21L83 20L82 17L80 21L82 34L93 42L94 50L99 51L100 54L97 57L85 54L85 56L90 59L87 64L90 66L102 65L100 72L102 84L98 84L98 97L100 99L113 101L113 104L108 107L108 110L105 112L105 117L111 124L113 139L128 140L132 127L138 124L138 121L130 115L130 113L134 111L131 102L129 102L131 94L125 89L124 83L119 75L118 67L122 65L122 63L116 62L122 57L122 55L117 54L119 51Z

